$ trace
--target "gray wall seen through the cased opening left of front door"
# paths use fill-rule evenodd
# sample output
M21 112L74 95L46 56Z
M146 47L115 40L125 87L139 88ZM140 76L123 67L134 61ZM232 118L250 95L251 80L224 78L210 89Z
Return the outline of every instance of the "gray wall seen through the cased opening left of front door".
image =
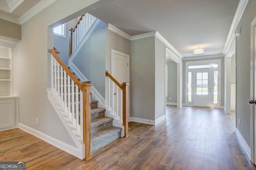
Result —
M166 65L168 65L168 97L166 97L166 102L177 103L177 63L168 61Z

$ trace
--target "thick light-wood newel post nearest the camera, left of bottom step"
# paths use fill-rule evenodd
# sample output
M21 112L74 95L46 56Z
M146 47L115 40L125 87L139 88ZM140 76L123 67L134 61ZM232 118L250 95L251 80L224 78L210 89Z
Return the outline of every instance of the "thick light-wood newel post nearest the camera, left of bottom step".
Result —
M83 82L82 84L83 92L83 142L85 145L85 158L88 160L92 157L92 147L91 147L91 82Z

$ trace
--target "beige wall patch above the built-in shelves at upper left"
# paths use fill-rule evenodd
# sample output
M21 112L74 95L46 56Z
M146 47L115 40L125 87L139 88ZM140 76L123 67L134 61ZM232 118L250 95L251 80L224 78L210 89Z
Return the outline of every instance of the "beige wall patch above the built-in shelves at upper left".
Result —
M0 19L0 37L14 41L21 40L21 25ZM30 30L27 30L30 31Z

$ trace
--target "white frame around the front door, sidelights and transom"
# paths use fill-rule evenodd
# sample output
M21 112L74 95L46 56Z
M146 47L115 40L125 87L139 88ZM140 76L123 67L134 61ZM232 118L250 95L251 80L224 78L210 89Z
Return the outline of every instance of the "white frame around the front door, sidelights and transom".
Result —
M213 95L212 95L212 107L221 108L221 59L216 60L203 60L203 61L186 61L186 89L185 89L185 106L193 106L193 97L191 98L191 102L188 102L188 72L193 72L194 69L188 69L188 66L196 66L196 65L208 65L208 64L218 64L218 67L212 68L212 70L218 71L218 103L213 103ZM202 68L205 69L205 68ZM193 74L192 74L193 77ZM193 78L191 84L193 85ZM192 93L193 95L193 93Z

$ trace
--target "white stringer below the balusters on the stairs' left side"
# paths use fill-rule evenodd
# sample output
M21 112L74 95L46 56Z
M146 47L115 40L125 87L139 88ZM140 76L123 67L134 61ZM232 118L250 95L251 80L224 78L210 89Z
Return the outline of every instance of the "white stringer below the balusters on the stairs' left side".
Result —
M65 150L66 152L80 158L81 160L84 159L84 143L81 135L78 135L76 133L78 130L76 127L72 124L72 121L69 120L69 118L66 116L67 113L65 113L65 110L63 109L63 106L60 104L60 102L56 99L56 96L54 95L54 92L52 92L52 89L48 88L47 90L47 97L50 103L52 104L54 110L56 111L57 115L59 116L60 120L62 121L64 127L68 131L70 137L73 139L74 143L76 144L76 147L73 147L70 150Z

